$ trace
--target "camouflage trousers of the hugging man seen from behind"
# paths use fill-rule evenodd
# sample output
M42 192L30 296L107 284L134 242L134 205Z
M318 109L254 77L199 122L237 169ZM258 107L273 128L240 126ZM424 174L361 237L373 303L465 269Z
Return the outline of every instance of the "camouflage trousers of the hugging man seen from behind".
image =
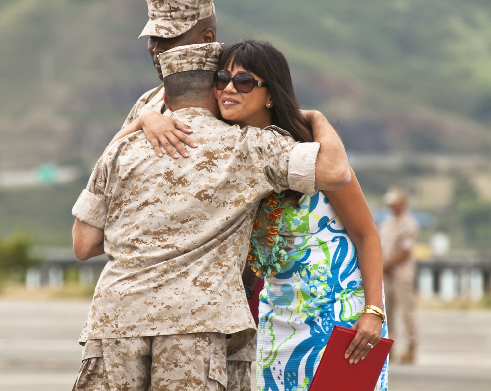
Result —
M72 391L224 391L226 335L89 340Z

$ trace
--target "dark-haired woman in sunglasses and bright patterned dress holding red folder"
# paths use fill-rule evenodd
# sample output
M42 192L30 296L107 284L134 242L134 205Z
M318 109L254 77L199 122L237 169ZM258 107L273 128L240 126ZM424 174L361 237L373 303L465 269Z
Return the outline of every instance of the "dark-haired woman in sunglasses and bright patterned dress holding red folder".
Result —
M225 120L261 128L274 124L298 141L312 141L288 63L269 43L226 47L214 87ZM357 330L346 354L354 364L387 335L380 239L353 172L341 190L313 197L287 191L263 200L248 262L265 281L258 390L307 390L335 324ZM387 363L377 390L387 390Z

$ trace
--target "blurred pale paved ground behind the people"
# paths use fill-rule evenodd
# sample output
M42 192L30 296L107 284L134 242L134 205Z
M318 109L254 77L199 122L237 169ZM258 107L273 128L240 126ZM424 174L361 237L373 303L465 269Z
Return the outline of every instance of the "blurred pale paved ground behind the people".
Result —
M71 390L88 306L0 298L0 390ZM390 391L491 390L491 311L419 309L418 320L417 363L391 363Z

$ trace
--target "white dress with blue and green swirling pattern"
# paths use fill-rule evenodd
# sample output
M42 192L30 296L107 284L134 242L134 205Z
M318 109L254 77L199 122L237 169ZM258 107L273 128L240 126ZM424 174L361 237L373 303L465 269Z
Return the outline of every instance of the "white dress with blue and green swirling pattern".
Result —
M324 193L284 209L294 243L259 296L258 391L307 391L332 327L351 327L365 305L355 246ZM262 256L265 247L259 245ZM387 389L386 362L375 390Z

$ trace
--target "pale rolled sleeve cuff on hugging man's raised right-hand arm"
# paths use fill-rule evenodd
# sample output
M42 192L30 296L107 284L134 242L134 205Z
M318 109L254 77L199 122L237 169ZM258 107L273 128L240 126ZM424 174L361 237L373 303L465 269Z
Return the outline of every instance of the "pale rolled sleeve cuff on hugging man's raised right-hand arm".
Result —
M319 143L295 145L288 160L288 183L292 190L312 196L315 194L315 162Z

